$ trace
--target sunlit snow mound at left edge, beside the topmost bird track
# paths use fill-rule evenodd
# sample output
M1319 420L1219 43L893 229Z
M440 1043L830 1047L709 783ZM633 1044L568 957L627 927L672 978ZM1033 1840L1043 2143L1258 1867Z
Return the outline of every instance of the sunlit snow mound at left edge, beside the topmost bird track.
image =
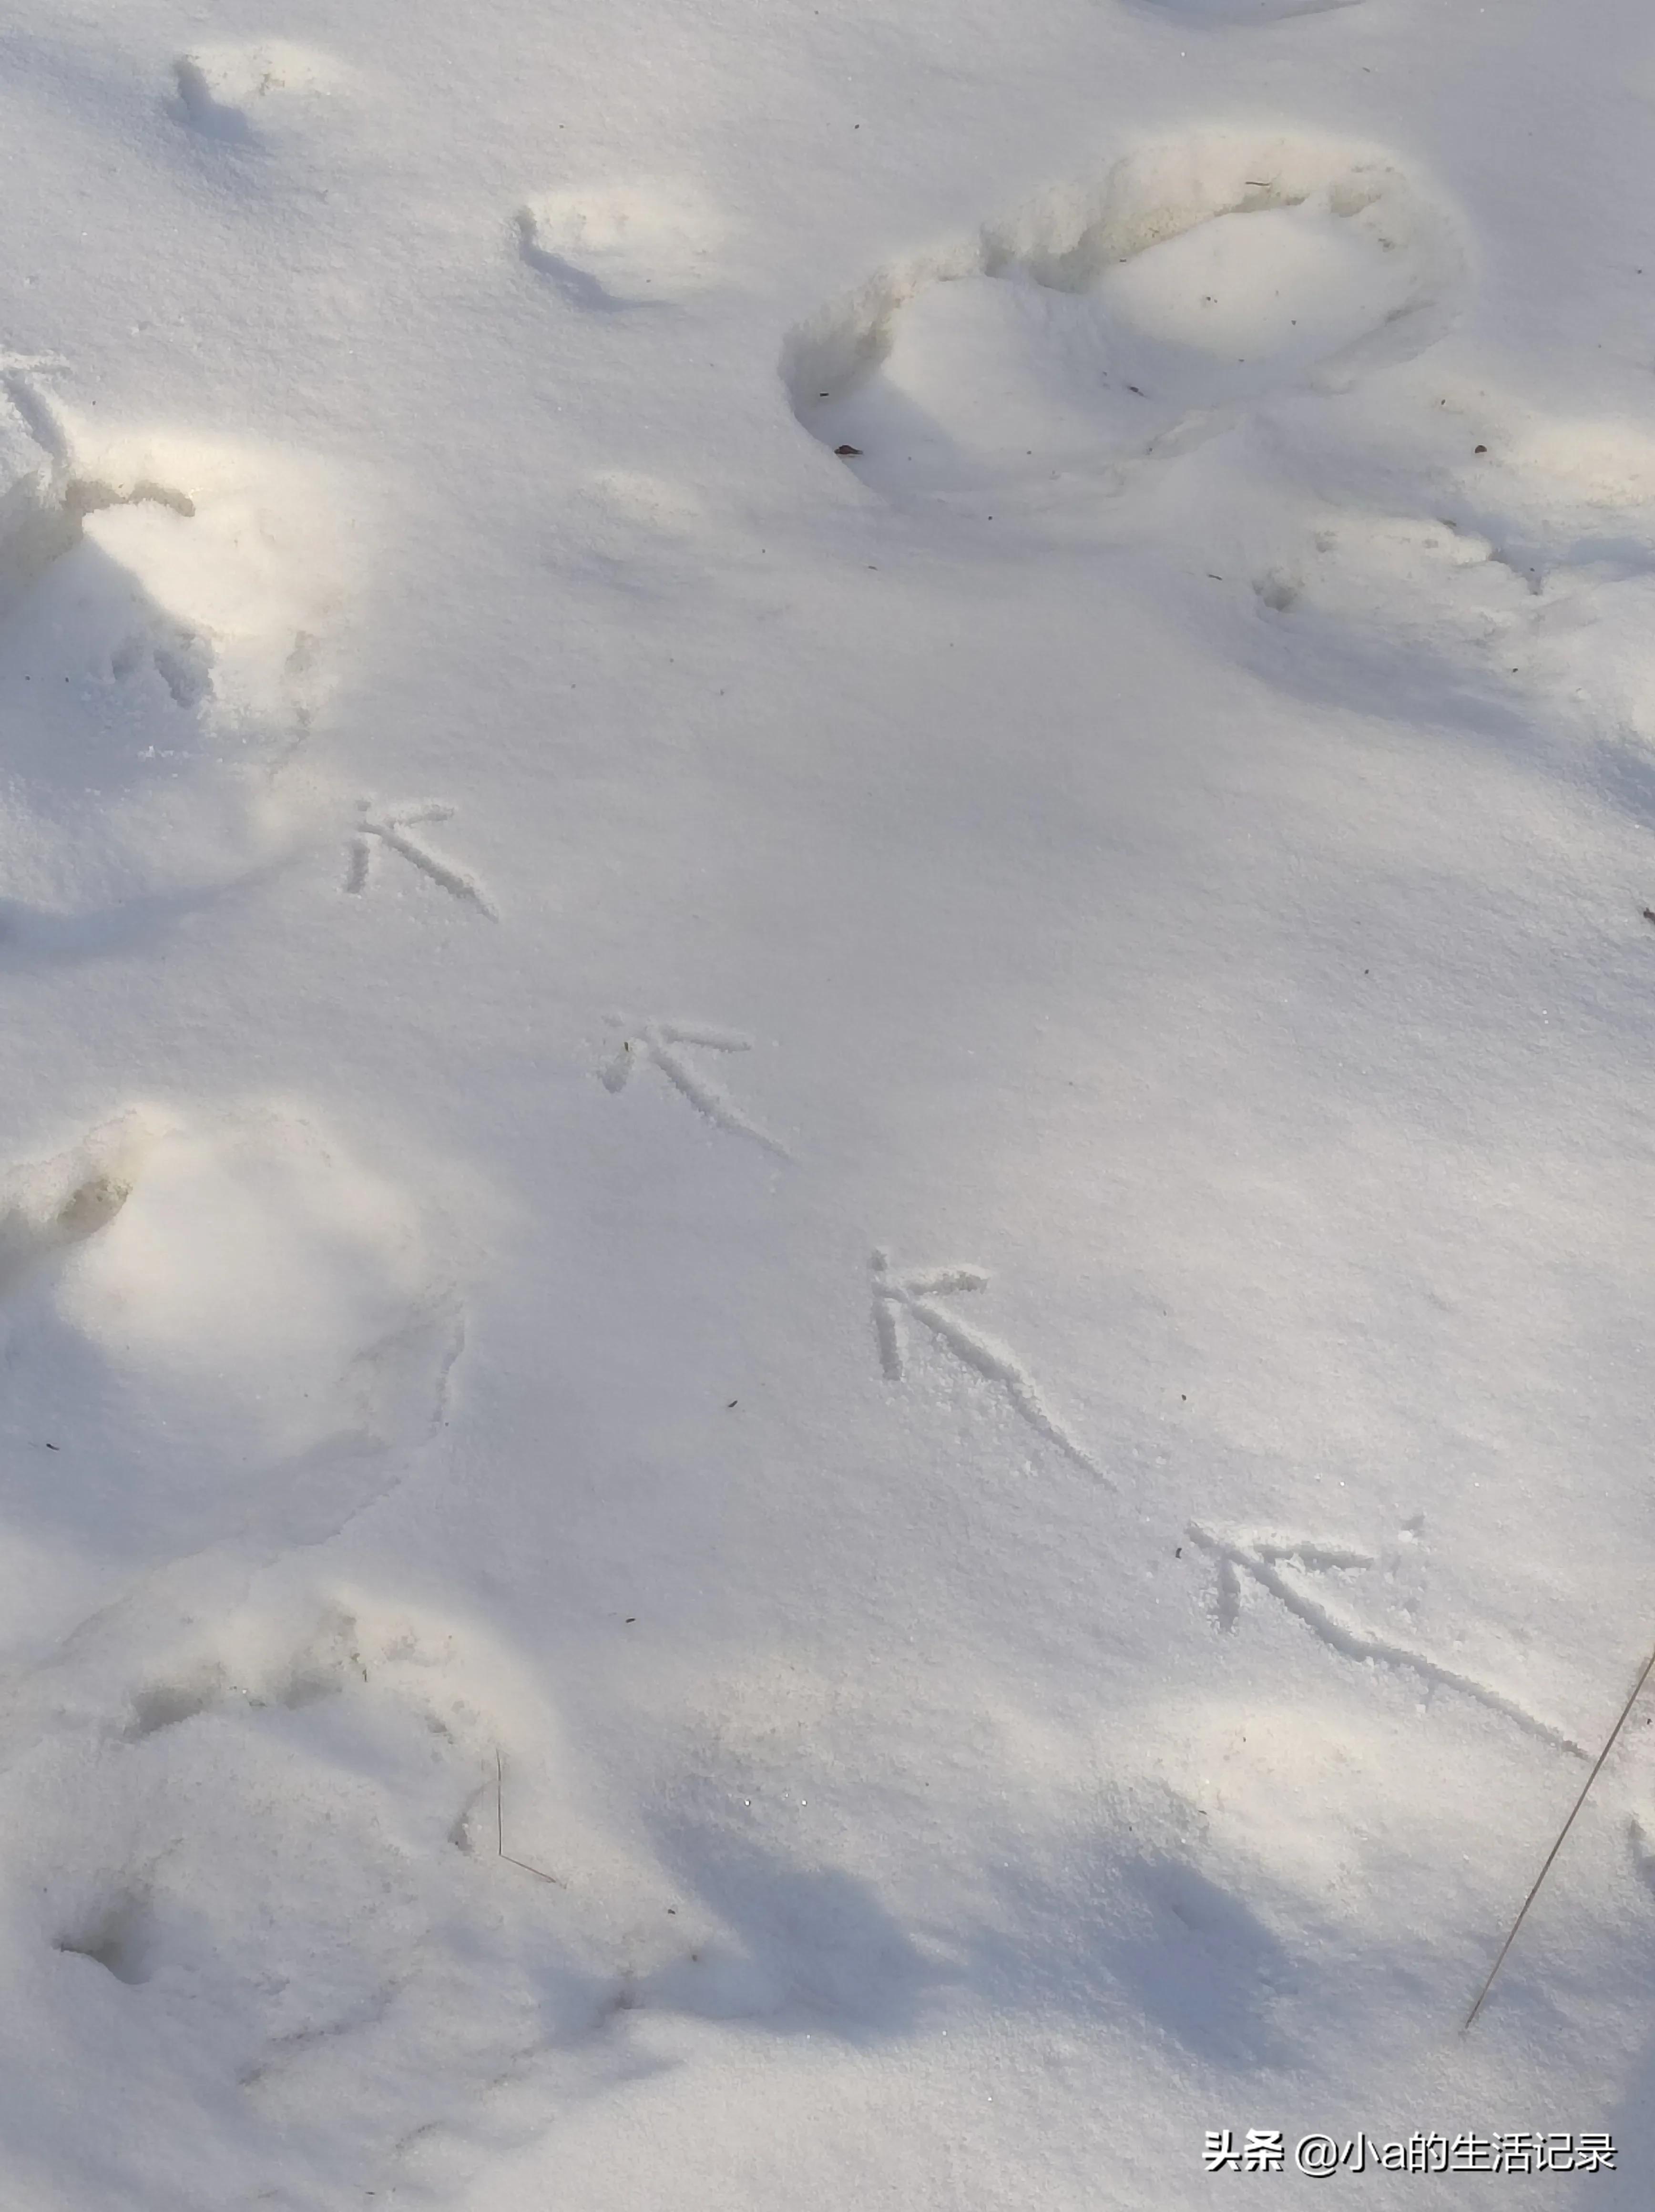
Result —
M325 699L352 564L314 462L0 383L0 856L27 933L270 858L268 779Z

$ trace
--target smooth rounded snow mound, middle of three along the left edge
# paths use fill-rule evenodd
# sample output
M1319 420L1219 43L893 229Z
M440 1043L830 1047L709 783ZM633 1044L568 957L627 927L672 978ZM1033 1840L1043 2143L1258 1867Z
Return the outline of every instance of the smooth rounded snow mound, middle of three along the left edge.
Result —
M429 1232L288 1110L135 1108L11 1177L0 1248L0 1498L69 1551L314 1535L438 1420L460 1323Z

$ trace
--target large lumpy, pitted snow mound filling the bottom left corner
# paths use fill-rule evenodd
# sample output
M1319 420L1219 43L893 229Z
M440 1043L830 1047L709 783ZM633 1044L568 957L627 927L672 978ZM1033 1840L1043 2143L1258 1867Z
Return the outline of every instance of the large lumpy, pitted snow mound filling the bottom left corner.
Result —
M438 2130L449 2174L513 2141L513 2084L544 2095L617 2002L591 1907L496 1847L496 1776L531 1767L558 1825L513 1801L511 1843L593 1856L555 1717L487 1639L363 1593L153 1610L144 1659L131 1628L53 1670L0 1781L11 2154L49 2159L49 2084L106 2068L148 2124L80 2130L89 2201L354 2205Z

